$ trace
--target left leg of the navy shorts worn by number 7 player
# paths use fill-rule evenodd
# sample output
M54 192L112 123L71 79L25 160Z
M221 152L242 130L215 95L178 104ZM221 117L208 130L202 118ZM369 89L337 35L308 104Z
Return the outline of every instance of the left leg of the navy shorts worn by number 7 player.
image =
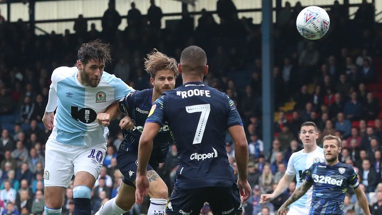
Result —
M181 190L174 187L174 192L167 204L167 215L199 215L204 203L206 191L204 188Z

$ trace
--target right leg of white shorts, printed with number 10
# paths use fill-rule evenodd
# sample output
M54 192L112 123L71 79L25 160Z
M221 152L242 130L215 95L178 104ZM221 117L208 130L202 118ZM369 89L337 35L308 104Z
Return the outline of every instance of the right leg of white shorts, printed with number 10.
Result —
M97 144L92 147L78 147L73 161L74 174L76 177L79 172L87 172L93 175L93 179L96 180L98 178L99 170L102 167L105 152L105 144Z

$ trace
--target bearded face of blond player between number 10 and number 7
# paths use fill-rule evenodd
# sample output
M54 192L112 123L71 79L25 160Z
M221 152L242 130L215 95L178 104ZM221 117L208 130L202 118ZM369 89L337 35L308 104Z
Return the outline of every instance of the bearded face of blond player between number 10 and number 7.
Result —
M155 79L151 79L154 90L164 93L175 88L175 76L171 70L160 70L156 73Z

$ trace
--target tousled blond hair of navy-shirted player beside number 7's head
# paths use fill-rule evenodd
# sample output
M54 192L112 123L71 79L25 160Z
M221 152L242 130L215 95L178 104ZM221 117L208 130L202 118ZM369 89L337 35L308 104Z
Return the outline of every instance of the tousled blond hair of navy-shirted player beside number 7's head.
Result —
M159 52L157 49L153 49L150 54L147 54L145 58L145 70L150 74L152 78L155 78L156 74L160 70L171 70L175 77L178 77L178 63L172 57Z

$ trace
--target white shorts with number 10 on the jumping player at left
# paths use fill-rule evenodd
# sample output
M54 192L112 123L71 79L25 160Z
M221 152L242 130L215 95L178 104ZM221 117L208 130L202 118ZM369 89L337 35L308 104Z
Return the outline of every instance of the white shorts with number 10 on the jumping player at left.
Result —
M45 187L68 188L73 175L89 172L98 178L105 157L106 143L92 147L62 144L49 138L45 145Z

